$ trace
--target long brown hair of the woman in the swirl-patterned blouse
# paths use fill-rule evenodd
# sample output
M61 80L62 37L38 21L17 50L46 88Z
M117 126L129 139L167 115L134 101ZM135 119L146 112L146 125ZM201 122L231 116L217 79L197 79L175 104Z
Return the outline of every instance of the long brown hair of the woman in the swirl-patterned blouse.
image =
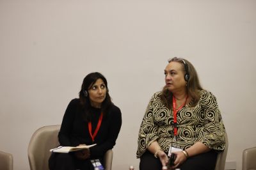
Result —
M195 106L200 99L200 90L202 90L202 86L200 85L200 81L198 79L198 75L196 73L195 67L186 59L183 58L172 58L168 59L168 62L177 62L182 64L184 74L189 74L189 79L186 84L186 90L188 93L188 97L191 98L190 105ZM185 62L185 63L184 63ZM187 70L186 70L187 66ZM172 92L170 92L167 88L163 88L164 100L169 108L172 108Z

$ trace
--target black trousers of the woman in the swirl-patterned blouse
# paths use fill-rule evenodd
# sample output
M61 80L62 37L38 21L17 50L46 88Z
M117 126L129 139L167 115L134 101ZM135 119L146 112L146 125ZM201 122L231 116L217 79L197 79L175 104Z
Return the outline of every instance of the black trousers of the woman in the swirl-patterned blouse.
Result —
M189 157L179 168L182 170L214 170L216 151L209 151L194 157ZM155 158L152 153L145 151L140 158L140 170L161 170L162 164L159 158Z

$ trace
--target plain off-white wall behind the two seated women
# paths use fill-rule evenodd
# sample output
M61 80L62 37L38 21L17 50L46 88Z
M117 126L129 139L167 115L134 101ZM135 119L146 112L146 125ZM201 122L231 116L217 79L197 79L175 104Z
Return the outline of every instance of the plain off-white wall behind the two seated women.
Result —
M136 159L140 123L167 59L195 66L216 95L227 160L256 145L256 1L0 0L0 150L29 169L37 128L60 124L86 74L102 72L123 125L113 170Z

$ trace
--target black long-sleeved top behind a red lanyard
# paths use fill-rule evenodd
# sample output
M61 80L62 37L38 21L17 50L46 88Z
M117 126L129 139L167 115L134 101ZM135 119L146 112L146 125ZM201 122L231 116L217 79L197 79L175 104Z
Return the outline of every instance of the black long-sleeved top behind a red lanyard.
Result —
M92 108L92 134L99 121L100 109ZM63 116L58 134L61 146L77 146L79 144L97 145L90 148L91 157L103 157L104 153L115 146L116 138L122 125L121 111L114 104L104 113L99 131L92 141L88 130L88 122L83 118L83 110L79 99L71 100Z

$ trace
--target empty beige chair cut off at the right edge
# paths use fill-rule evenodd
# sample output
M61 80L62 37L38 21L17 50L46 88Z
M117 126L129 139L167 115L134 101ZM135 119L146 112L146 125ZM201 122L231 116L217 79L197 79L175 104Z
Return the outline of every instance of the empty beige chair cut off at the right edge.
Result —
M243 151L243 170L256 170L256 147Z

